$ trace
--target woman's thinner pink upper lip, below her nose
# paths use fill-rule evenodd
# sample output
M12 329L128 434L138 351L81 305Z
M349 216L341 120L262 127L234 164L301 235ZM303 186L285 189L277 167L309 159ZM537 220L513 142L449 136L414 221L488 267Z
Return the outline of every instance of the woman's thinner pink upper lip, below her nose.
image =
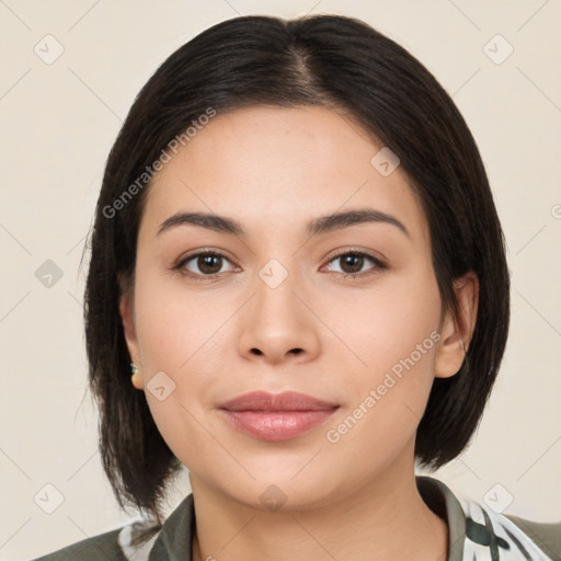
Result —
M324 411L336 409L339 403L322 401L298 391L268 393L251 391L220 405L228 411Z

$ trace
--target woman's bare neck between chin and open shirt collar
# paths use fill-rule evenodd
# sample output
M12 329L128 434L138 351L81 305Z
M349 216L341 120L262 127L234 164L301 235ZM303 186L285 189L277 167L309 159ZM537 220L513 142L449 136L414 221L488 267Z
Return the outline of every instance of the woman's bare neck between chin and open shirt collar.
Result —
M448 527L423 502L414 470L388 469L329 506L270 512L241 504L190 474L194 561L446 561Z

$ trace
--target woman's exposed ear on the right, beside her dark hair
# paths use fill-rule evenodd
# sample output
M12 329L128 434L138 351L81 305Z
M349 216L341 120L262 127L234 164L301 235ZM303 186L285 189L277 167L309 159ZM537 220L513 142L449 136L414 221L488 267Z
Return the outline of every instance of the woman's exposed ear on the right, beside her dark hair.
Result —
M458 316L446 311L440 330L440 343L436 352L435 376L449 378L461 368L468 352L479 304L479 279L473 272L466 273L454 282L458 300Z

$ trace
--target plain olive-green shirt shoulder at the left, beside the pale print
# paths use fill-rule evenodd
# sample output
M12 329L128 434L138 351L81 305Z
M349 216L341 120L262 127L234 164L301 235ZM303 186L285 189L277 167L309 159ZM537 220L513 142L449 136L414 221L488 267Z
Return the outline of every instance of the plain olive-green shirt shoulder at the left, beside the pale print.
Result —
M87 538L33 561L127 561L118 545L122 528Z

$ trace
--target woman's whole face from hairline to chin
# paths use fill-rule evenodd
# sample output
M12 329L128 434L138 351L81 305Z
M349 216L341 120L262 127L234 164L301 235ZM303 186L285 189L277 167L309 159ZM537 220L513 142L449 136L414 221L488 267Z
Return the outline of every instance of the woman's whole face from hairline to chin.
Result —
M381 148L342 112L250 107L210 119L150 186L122 314L194 489L296 508L413 470L435 371L461 359L445 355L426 219L401 169L371 163ZM185 213L239 231L168 220ZM225 411L257 390L328 405Z

